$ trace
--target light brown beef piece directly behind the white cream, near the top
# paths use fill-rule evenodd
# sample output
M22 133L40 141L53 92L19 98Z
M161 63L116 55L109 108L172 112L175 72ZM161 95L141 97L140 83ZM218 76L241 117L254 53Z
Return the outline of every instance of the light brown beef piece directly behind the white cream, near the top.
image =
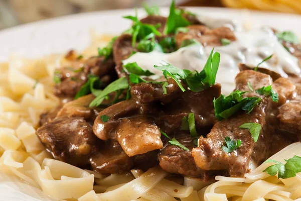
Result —
M190 25L186 27L189 31L187 33L179 32L176 35L177 47L180 48L185 40L195 39L202 45L221 46L221 39L225 38L235 41L234 33L228 27L220 27L217 29L209 29L204 25Z

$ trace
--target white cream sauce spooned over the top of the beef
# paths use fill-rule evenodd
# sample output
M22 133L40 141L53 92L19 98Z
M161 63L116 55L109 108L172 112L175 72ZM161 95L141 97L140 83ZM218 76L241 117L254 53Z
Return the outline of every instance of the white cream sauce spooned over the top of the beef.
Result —
M207 22L214 24L216 21ZM228 21L226 22L226 25L229 26ZM235 27L237 26L233 26L233 29ZM286 73L300 73L297 58L286 51L270 29L242 31L239 28L235 30L237 41L230 45L214 48L215 51L220 53L221 58L216 82L222 85L223 94L228 95L235 88L234 80L239 72L238 63L256 66L271 54L273 54L272 58L262 63L260 67L275 71L283 77L287 77ZM191 45L168 54L158 51L136 53L124 60L123 63L137 62L141 68L150 70L156 75L162 75L162 71L154 68L154 65L160 65L162 61L166 61L180 69L201 71L212 48L210 46Z

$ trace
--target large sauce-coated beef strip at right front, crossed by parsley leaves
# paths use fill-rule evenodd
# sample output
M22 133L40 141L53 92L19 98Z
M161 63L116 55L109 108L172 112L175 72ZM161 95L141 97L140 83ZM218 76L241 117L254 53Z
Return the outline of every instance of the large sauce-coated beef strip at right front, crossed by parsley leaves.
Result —
M268 86L272 83L271 77L256 71L245 70L236 77L237 89L247 91L250 82L254 89ZM259 96L255 92L246 93L251 96ZM198 147L194 148L192 155L198 167L204 170L228 170L231 176L242 176L249 171L249 162L254 148L254 139L249 130L240 129L244 123L258 123L265 125L265 109L267 98L261 96L261 102L254 107L250 114L244 111L238 112L229 119L217 122L207 138L200 137ZM231 153L222 150L225 137L229 136L232 140L240 139L241 146ZM259 141L259 140L258 140Z

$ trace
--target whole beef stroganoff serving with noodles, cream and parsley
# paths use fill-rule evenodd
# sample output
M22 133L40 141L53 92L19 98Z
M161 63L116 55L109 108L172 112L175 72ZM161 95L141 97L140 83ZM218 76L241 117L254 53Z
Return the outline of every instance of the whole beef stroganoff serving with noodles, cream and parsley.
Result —
M55 199L301 200L298 37L145 10L97 54L0 65L1 171Z

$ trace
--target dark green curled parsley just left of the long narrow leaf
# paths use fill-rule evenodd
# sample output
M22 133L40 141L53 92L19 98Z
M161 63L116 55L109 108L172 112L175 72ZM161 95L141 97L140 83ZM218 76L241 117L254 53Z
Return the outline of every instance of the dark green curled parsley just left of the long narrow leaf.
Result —
M96 88L100 88L101 85L101 81L99 77L95 75L88 75L88 78L89 78L88 81L84 85L82 85L80 90L76 93L74 99L87 95L91 92L94 95L97 95L97 93L95 94L95 91L99 91L99 89Z

